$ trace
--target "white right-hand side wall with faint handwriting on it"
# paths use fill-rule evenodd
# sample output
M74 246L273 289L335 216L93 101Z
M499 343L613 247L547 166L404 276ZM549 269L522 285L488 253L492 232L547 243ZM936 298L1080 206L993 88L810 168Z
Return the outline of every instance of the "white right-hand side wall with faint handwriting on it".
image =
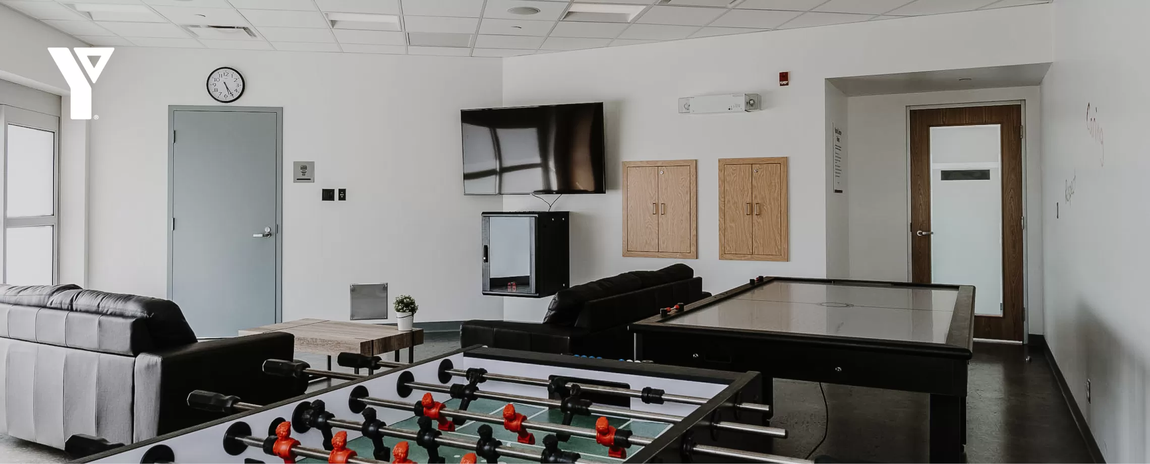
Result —
M1042 85L1046 338L1106 462L1145 462L1150 2L1053 7Z

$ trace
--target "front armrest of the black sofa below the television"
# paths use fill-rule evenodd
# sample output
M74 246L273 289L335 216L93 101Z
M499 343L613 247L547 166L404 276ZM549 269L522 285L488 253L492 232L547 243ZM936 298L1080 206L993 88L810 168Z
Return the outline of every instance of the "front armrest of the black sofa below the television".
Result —
M588 333L584 328L554 324L468 320L459 328L459 346L486 345L492 348L572 354L574 346Z

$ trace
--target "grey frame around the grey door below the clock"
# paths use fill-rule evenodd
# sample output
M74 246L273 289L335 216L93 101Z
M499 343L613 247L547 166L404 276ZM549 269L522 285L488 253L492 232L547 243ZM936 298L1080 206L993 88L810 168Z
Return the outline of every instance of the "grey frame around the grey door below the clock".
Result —
M276 115L276 316L275 322L283 320L283 223L284 223L284 109L283 107L216 107L216 106L169 106L168 107L168 299L171 299L172 271L175 253L172 221L176 207L176 111L237 111L237 113L274 113Z

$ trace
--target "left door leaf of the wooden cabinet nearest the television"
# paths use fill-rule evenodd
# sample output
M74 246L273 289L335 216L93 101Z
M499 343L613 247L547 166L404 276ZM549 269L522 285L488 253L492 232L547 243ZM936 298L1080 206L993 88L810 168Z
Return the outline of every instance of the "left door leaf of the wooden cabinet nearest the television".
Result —
M623 168L623 252L659 250L659 168Z

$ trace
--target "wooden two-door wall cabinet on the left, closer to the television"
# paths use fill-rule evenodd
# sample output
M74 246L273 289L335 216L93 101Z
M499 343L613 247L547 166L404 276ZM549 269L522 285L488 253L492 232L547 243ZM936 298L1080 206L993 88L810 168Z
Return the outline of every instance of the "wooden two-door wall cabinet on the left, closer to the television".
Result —
M697 164L623 162L623 256L698 257Z

